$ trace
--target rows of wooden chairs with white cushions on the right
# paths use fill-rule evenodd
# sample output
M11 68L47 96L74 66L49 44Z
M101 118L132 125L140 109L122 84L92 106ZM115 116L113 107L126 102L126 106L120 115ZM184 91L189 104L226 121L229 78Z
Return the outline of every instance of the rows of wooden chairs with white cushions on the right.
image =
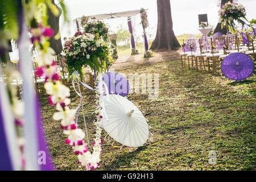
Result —
M220 65L230 53L245 53L255 59L255 36L247 34L247 42L238 34L188 39L182 45L182 68L220 72Z

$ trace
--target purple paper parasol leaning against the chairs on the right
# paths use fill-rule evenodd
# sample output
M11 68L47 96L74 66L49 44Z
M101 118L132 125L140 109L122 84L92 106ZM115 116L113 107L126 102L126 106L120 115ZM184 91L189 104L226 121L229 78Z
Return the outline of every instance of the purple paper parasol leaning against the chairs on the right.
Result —
M243 53L232 53L221 64L223 74L231 80L245 80L253 73L254 64Z

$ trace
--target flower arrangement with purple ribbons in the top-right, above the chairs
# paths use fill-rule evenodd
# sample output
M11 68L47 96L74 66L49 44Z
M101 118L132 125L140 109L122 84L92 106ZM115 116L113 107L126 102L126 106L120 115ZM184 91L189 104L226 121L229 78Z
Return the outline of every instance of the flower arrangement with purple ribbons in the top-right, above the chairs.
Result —
M218 11L220 15L220 21L222 26L230 26L234 29L233 20L245 24L242 18L246 19L245 7L241 4L235 2L227 2L225 5L221 6L221 9Z

